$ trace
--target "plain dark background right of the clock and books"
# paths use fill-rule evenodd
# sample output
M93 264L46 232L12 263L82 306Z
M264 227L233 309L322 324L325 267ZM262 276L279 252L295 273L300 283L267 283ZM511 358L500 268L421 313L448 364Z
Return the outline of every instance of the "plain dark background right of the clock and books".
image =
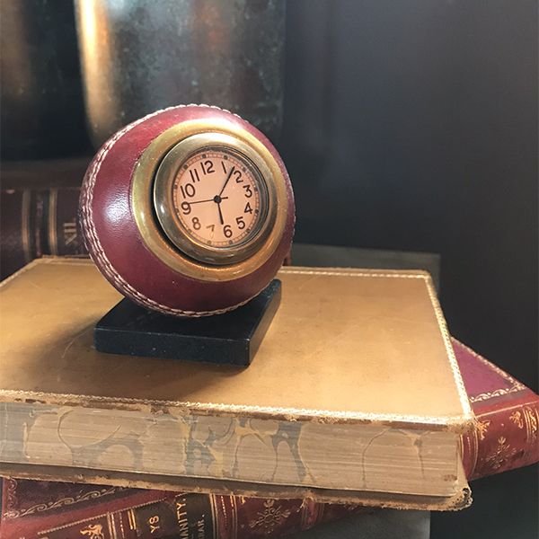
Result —
M296 241L441 254L450 331L537 390L537 3L287 5ZM536 468L432 536L536 537Z

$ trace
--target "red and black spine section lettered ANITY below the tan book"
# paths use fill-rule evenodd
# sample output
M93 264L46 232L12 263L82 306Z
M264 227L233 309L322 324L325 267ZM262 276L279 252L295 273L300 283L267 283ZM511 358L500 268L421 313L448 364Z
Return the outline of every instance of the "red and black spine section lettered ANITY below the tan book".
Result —
M105 513L40 531L25 539L254 539L279 537L330 522L358 506L319 504L303 499L255 499L179 494L171 499Z

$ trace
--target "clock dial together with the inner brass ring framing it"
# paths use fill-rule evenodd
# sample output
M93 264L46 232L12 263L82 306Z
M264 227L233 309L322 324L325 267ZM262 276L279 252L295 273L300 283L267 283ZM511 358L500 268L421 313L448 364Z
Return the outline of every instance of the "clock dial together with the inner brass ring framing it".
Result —
M275 219L260 156L234 137L193 135L155 175L155 213L168 240L195 261L225 265L258 250ZM270 176L268 176L270 178Z

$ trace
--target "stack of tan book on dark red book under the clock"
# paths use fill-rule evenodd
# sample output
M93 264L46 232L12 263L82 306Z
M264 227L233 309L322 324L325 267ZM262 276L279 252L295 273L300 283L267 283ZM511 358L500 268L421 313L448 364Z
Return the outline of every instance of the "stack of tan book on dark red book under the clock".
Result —
M0 536L280 536L453 510L539 459L538 397L447 332L422 271L287 267L248 368L114 356L88 260L0 285Z

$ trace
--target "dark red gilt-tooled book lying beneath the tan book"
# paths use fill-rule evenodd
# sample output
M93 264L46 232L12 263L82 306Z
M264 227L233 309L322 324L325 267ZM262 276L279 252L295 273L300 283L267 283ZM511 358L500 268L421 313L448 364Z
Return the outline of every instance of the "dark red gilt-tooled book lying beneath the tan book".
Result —
M539 396L453 340L477 429L462 439L468 479L539 461ZM4 480L1 539L278 537L367 511L309 499L260 499L103 485Z

